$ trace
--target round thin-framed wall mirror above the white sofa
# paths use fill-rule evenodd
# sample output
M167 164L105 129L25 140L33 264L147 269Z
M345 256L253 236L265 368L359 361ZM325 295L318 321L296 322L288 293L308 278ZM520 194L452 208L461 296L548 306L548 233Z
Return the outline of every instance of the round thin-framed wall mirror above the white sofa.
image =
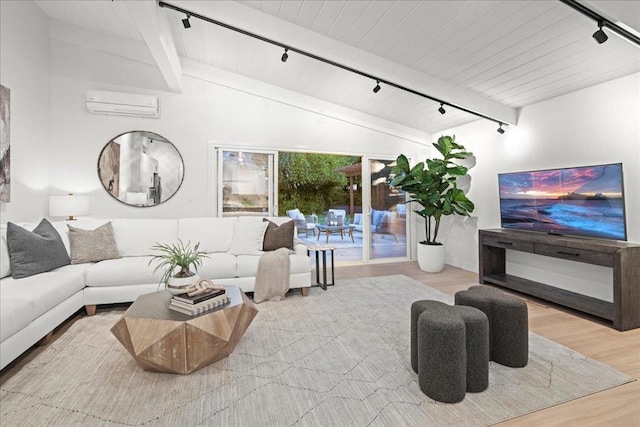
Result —
M98 177L114 199L130 206L156 206L180 188L184 163L178 149L153 132L116 136L98 158Z

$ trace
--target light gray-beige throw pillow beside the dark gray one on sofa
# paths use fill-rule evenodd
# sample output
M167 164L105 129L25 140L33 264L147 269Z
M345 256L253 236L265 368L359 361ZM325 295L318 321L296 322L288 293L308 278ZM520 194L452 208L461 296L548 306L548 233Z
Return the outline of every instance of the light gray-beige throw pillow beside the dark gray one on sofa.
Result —
M101 225L95 230L76 228L69 224L67 227L69 227L71 264L120 258L111 222Z

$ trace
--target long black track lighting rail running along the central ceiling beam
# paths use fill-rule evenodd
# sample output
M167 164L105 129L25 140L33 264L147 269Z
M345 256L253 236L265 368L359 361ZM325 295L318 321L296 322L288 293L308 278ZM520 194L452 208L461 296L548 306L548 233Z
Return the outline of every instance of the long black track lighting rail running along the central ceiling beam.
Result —
M443 108L443 106L446 105L448 107L452 107L452 108L455 108L457 110L464 111L465 113L472 114L472 115L474 115L476 117L480 117L480 118L483 118L483 119L490 120L492 122L498 123L501 126L508 126L507 123L501 122L500 120L496 120L496 119L494 119L492 117L489 117L489 116L486 116L486 115L484 115L482 113L478 113L476 111L469 110L469 109L467 109L465 107L462 107L460 105L457 105L457 104L446 102L446 101L444 101L442 99L433 97L431 95L427 95L426 93L418 92L417 90L408 88L406 86L394 83L394 82L389 81L389 80L385 80L385 79L380 78L378 76L374 76L373 74L369 74L367 72L364 72L364 71L349 67L348 65L340 64L340 63L332 61L330 59L323 58L321 56L315 55L315 54L313 54L311 52L307 52L305 50L292 47L290 45L281 43L279 41L276 41L276 40L273 40L273 39L270 39L270 38L267 38L267 37L263 37L263 36L261 36L259 34L255 34L255 33L252 33L250 31L247 31L247 30L243 30L242 28L234 27L233 25L229 25L229 24L226 24L224 22L217 21L215 19L209 18L207 16L200 15L200 14L198 14L196 12L192 12L190 10L183 9L181 7L178 7L178 6L174 6L174 5L170 4L170 3L165 3L163 1L159 1L158 2L158 6L159 7L163 7L163 8L167 8L167 9L171 9L171 10L174 10L176 12L184 13L185 15L187 15L189 17L198 18L198 19L201 19L201 20L203 20L205 22L208 22L210 24L218 25L218 26L226 28L228 30L235 31L236 33L244 34L245 36L253 37L254 39L261 40L261 41L263 41L265 43L269 43L269 44L272 44L274 46L278 46L280 48L285 49L285 53L286 52L294 52L294 53L297 53L299 55L306 56L307 58L315 59L316 61L324 62L325 64L333 65L334 67L341 68L341 69L343 69L345 71L349 71L351 73L358 74L360 76L367 77L369 79L375 80L377 82L376 88L380 87L379 86L380 84L384 84L384 85L387 85L387 86L390 86L390 87L394 87L396 89L400 89L400 90L403 90L405 92L411 93L413 95L417 95L417 96L420 96L422 98L429 99L429 100L434 101L436 103L439 103L439 104L441 104L440 108ZM283 55L283 57L284 57L284 55ZM287 55L287 57L288 57L288 55ZM285 61L285 59L283 59L283 62L284 61Z

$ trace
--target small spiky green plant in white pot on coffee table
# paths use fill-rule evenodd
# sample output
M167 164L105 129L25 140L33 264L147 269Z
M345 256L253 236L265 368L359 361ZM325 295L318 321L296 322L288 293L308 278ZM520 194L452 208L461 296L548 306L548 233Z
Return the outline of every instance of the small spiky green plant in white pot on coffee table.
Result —
M191 243L185 245L179 239L178 243L173 245L157 243L151 247L151 250L160 252L160 254L153 255L149 265L158 262L153 270L154 273L164 269L160 281L172 294L183 293L187 286L194 285L200 280L200 276L197 274L198 267L202 266L202 259L208 258L209 255L205 251L199 250L199 247L200 243L196 243L192 248ZM180 269L176 272L178 267Z

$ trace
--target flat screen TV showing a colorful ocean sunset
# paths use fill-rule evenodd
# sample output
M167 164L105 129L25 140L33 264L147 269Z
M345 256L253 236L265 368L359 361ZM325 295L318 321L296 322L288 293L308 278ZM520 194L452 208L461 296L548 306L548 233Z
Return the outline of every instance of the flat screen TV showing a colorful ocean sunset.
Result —
M627 240L622 164L498 175L503 228Z

